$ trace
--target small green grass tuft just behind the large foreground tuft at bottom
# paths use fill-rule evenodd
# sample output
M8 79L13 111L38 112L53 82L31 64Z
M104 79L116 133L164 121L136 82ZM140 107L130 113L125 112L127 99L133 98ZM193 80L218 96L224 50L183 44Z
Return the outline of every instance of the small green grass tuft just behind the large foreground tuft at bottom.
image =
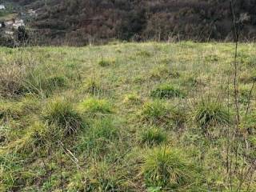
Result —
M156 127L150 127L143 130L140 135L140 141L150 146L166 142L166 133Z

